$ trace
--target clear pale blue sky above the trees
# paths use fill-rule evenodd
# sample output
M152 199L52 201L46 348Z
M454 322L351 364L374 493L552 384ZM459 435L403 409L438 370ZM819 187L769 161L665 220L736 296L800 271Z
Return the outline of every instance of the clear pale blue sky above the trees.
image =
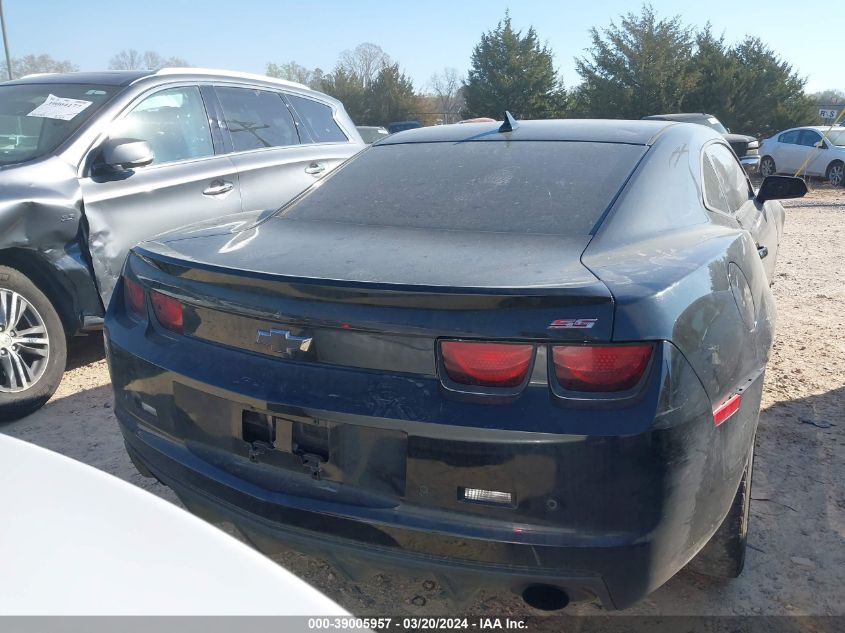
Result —
M574 58L589 29L605 27L639 2L602 0L2 0L12 57L47 53L101 70L125 48L181 57L193 66L263 73L268 62L294 60L329 71L341 51L381 46L424 91L446 67L465 74L473 47L510 10L514 27L534 26L555 54L564 83L578 83ZM729 42L756 35L807 78L807 91L845 89L845 10L786 0L653 0L661 17L712 23ZM798 24L804 26L798 28ZM0 57L2 57L0 55Z

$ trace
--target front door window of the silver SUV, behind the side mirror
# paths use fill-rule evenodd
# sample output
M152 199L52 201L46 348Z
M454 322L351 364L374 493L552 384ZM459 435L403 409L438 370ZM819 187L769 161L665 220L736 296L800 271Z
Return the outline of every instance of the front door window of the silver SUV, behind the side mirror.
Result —
M147 141L154 165L214 155L208 114L196 86L150 95L117 121L109 136Z

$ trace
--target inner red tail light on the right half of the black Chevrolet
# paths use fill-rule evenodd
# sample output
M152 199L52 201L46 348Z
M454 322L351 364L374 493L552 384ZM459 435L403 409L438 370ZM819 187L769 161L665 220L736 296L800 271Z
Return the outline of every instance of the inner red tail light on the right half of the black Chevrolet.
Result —
M443 366L462 385L518 387L528 374L533 345L443 341Z

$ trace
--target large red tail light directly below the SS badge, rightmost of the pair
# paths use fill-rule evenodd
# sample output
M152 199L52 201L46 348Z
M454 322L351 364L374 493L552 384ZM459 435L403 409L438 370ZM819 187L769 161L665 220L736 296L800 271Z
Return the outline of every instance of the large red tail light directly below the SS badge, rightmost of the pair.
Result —
M653 350L645 345L556 345L555 376L571 391L625 391L642 378Z

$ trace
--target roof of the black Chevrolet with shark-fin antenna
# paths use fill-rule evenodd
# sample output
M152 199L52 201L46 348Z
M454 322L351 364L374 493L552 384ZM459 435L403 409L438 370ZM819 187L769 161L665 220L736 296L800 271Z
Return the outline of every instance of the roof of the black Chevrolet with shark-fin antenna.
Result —
M670 121L624 121L606 119L547 119L518 121L512 132L499 132L500 122L472 125L435 125L399 132L375 145L461 141L589 141L650 145Z

